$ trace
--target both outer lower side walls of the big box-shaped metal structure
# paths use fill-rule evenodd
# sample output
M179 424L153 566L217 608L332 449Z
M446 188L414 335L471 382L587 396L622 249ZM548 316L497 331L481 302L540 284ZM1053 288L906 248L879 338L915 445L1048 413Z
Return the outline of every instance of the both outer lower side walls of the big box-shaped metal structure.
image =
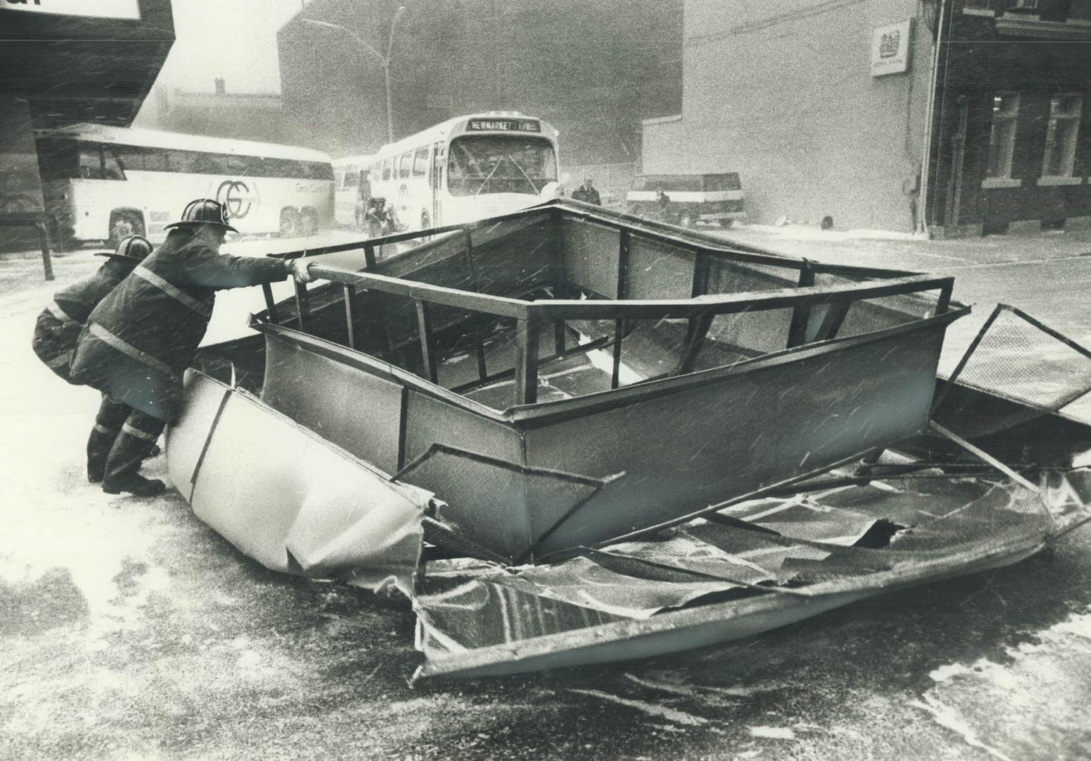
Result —
M612 400L613 394L591 395L560 402L564 411L556 414L552 403L528 407L514 424L468 409L454 397L427 395L422 391L430 384L422 379L375 378L375 370L352 366L347 350L344 358L327 360L317 353L317 346L310 346L319 341L304 335L293 336L292 342L300 347L290 349L278 346L285 339L267 335L266 372L271 389L293 389L291 403L283 406L289 416L316 431L343 433L338 444L389 470L394 468L388 463L405 467L441 444L514 466L590 479L624 473L572 515L568 509L577 500L565 499L562 505L538 499L542 484L519 475L523 488L517 491L527 495L519 504L535 512L529 520L518 505L504 508L491 500L489 509L472 498L475 485L488 490L493 481L509 481L512 473L467 480L458 472L460 466L447 458L407 476L448 503L447 520L454 524L480 524L480 516L485 524L508 527L488 542L483 535L476 541L501 556L518 557L543 536L540 552L600 542L820 471L919 432L926 421L945 325L946 318L940 318L844 345L808 347L746 366L709 371L714 377L707 383L697 383L703 376L695 376L682 388L674 387L681 378L652 382L627 401ZM314 383L301 388L301 378L320 378L331 370L336 371L332 373L336 388L344 380L345 388L357 390L345 396ZM400 408L395 407L395 386L403 383L421 390L407 389ZM381 391L374 399L368 392L372 386ZM628 389L630 396L636 390ZM353 403L356 392L359 399L346 412L344 402ZM278 395L271 390L268 398ZM348 418L353 423L343 426ZM371 418L373 422L364 421ZM513 427L518 424L528 427L520 433ZM448 493L457 484L469 488ZM543 509L547 506L552 509ZM459 519L460 514L466 520ZM562 517L563 523L551 531Z

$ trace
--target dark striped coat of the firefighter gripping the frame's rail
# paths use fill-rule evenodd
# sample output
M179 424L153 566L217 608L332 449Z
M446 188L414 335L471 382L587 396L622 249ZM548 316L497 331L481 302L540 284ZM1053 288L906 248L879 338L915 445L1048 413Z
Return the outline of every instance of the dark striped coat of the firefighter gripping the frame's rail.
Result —
M219 254L172 231L91 313L72 378L171 421L180 412L182 374L208 327L215 292L273 282L288 273L280 259Z

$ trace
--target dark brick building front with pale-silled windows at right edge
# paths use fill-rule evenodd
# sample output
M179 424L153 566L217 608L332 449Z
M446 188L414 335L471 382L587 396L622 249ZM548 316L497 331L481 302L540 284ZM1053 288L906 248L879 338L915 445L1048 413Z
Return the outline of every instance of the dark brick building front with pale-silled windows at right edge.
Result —
M1091 0L959 0L937 72L930 222L1091 226Z

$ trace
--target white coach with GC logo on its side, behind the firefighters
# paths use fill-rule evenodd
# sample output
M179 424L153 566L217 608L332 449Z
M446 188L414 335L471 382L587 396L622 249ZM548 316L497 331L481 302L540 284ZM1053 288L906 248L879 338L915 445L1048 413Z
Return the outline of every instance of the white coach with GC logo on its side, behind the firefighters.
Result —
M67 244L158 241L194 198L245 233L313 234L333 218L333 167L317 150L101 124L37 130L46 213Z

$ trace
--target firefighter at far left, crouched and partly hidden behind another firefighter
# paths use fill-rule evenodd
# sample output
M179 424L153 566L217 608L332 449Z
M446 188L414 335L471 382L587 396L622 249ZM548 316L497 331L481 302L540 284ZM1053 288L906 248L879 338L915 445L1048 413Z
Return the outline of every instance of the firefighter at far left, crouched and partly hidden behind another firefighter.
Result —
M74 383L70 373L72 355L92 310L151 253L147 239L130 235L112 254L99 254L108 258L94 275L53 294L53 300L38 315L31 341L34 353L47 367L68 383ZM106 456L121 431L128 409L103 395L95 426L87 438L87 480L92 483L103 480Z

